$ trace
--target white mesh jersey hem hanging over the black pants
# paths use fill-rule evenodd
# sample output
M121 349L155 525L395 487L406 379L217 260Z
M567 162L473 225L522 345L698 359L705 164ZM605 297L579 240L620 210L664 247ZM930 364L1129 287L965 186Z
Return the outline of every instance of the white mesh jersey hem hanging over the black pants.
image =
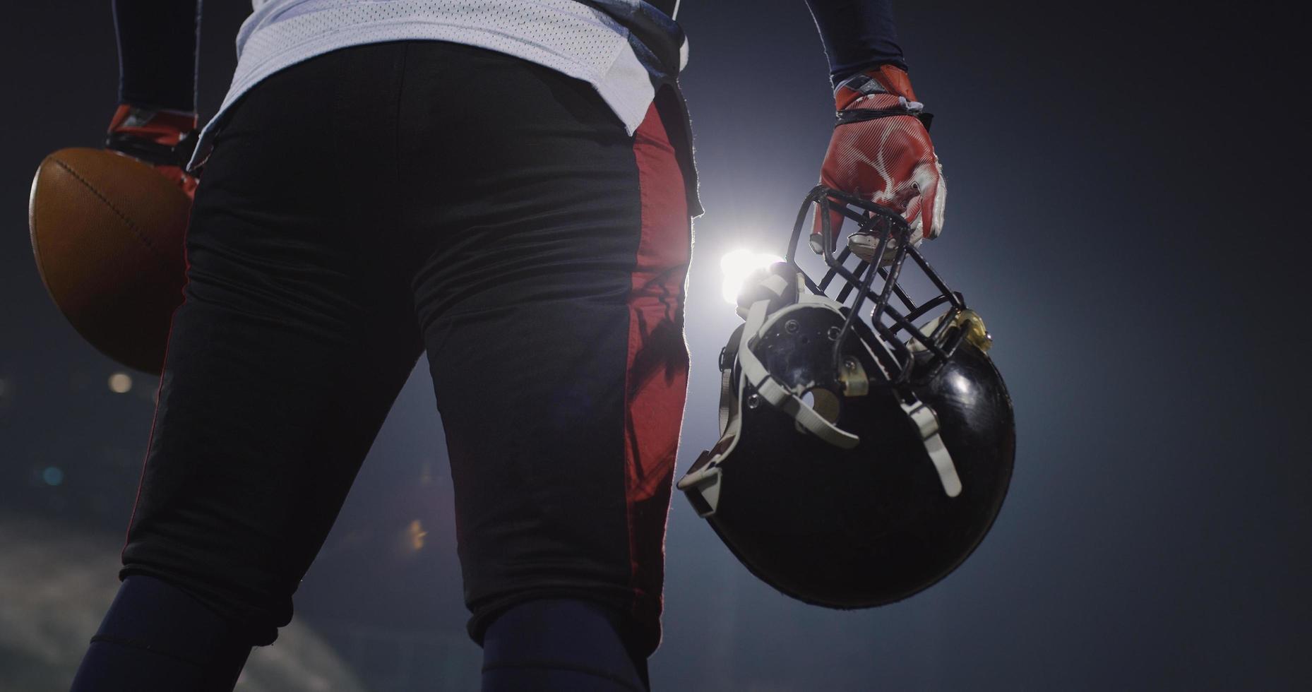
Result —
M596 5L596 7L594 7ZM677 66L653 58L634 29L652 5L639 0L252 0L237 32L237 68L189 168L202 164L227 109L269 75L324 53L384 41L429 39L514 55L590 83L632 134L660 79L677 75L687 43L677 25ZM606 12L600 9L606 8ZM677 4L676 4L677 7ZM659 14L657 14L659 16ZM622 21L631 20L631 21ZM666 51L668 53L668 51ZM674 75L670 75L673 72Z

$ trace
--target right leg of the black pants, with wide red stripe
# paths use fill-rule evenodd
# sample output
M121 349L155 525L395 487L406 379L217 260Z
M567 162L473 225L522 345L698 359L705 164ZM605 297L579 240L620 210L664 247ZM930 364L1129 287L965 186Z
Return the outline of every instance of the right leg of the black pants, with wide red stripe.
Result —
M651 639L687 373L673 147L655 110L630 137L585 83L453 53L417 80L434 93L408 89L403 122L415 160L447 172L412 232L471 629L579 595L636 613ZM438 101L504 84L531 109L467 119Z

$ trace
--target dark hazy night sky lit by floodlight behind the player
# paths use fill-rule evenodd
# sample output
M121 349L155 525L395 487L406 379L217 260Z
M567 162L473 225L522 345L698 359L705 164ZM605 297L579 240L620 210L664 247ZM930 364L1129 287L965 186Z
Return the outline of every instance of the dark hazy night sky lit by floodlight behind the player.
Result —
M1307 60L1283 29L1305 21L1254 4L1169 7L899 4L949 181L946 230L926 252L996 337L1019 433L1010 495L960 570L866 612L775 594L676 496L656 688L1304 688ZM202 118L227 88L248 7L205 11ZM715 357L736 323L719 257L782 252L832 117L800 0L681 12L707 214L680 471L718 433ZM96 146L113 112L109 3L5 13L0 509L118 541L155 382L109 391L118 368L50 303L24 211L42 156ZM416 520L420 550L405 548ZM0 600L22 597L10 591ZM476 668L425 365L297 603L373 689L432 689L434 666L446 679Z

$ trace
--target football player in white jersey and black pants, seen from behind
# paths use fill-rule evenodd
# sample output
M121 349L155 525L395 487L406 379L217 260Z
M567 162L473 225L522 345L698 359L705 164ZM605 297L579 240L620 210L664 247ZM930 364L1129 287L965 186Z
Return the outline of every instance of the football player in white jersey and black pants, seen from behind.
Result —
M945 188L891 0L807 4L838 112L821 183L933 238ZM231 689L420 355L483 688L648 688L701 213L677 11L253 0L193 139L199 1L114 0L109 143L194 205L122 584L75 691Z

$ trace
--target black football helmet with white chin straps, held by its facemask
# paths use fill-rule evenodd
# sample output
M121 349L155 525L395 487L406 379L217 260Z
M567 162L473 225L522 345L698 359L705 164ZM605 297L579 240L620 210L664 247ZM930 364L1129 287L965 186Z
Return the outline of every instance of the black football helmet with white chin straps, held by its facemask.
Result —
M812 205L819 284L794 261ZM858 225L837 256L830 209ZM912 299L908 269L937 294ZM720 440L678 482L698 515L748 570L817 605L892 603L956 569L1002 507L1015 425L983 320L907 221L815 188L739 314L720 353Z

